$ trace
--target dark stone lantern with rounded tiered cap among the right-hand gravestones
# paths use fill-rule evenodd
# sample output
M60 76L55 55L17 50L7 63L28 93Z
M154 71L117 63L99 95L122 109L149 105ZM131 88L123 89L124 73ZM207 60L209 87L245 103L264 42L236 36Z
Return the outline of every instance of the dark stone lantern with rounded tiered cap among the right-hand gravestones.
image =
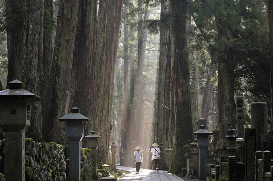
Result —
M237 144L236 144L236 139L238 138L236 134L236 130L234 127L229 127L228 129L228 135L226 136L228 139L228 156L229 157L235 157L236 156L236 151L237 151Z

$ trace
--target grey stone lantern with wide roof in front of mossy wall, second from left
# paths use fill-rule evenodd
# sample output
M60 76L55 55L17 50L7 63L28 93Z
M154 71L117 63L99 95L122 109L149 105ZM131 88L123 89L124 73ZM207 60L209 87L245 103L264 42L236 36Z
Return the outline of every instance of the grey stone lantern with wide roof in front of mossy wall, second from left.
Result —
M80 181L80 141L83 138L84 122L90 121L74 107L71 113L59 118L67 121L67 138L69 139L69 180Z

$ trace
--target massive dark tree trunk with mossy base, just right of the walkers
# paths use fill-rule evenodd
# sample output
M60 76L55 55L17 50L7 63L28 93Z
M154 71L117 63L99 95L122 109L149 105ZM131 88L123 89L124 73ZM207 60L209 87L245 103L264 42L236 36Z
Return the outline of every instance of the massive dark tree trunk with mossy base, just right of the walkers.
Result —
M192 140L193 125L189 89L189 65L186 36L187 1L170 0L171 87L173 93L173 156L170 173L186 167L185 144Z

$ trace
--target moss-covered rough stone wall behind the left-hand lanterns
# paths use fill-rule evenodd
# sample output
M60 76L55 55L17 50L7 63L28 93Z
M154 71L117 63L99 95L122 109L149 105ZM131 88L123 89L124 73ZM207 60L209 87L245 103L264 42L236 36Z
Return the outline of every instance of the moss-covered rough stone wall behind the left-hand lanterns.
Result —
M26 181L67 181L69 178L69 146L33 142L26 138ZM81 181L93 181L90 149L81 149ZM0 141L0 180L3 180L5 140Z

